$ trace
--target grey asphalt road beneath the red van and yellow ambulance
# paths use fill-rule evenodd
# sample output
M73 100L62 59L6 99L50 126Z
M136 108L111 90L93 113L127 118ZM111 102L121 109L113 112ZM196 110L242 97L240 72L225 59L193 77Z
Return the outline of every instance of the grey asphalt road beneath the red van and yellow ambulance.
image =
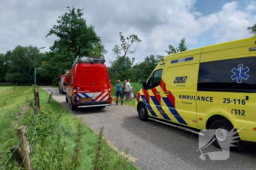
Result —
M49 88L54 89L42 86L48 93ZM52 97L66 105L65 95L57 92ZM104 126L105 138L120 151L129 147L129 153L138 158L134 164L143 170L256 170L254 143L250 143L246 150L230 152L227 160L202 160L200 151L196 151L199 148L198 135L158 122L143 122L135 107L113 103L106 108L82 108L72 113L82 116L83 122L94 131L98 132ZM207 152L212 151L221 150L208 146Z

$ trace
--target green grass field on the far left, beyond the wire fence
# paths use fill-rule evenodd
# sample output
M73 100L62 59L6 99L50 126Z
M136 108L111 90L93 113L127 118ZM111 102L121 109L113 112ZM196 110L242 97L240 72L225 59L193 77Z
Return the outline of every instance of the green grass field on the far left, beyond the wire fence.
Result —
M27 98L26 98L27 96ZM10 147L18 142L17 131L19 116L23 106L29 105L33 99L33 88L0 87L0 167L10 156ZM29 100L30 99L30 100ZM11 165L8 165L10 167Z

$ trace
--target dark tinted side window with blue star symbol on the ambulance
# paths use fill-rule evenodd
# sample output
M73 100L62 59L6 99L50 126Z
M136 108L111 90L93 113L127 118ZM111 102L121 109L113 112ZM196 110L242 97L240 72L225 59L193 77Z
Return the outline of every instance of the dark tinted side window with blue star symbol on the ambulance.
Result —
M256 57L200 63L198 91L256 92Z

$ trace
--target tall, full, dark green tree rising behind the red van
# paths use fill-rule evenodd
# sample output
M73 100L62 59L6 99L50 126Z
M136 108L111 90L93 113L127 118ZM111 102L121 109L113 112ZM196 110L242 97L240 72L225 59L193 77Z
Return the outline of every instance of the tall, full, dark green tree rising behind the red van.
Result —
M101 45L101 39L94 31L92 25L86 25L86 20L83 16L83 9L77 9L73 7L59 16L57 23L50 29L46 35L55 35L59 39L54 41L54 45L50 47L50 50L56 52L56 54L72 56L71 62L74 62L77 56L90 56L95 47L105 53L104 46ZM99 52L101 53L101 52Z

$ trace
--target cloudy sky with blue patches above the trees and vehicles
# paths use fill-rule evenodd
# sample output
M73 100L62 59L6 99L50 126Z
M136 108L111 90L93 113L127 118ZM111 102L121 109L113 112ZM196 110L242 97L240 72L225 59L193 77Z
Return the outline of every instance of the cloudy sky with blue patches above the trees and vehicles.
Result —
M16 46L46 47L56 39L48 36L67 7L84 8L87 24L95 26L108 54L124 36L142 40L136 62L146 55L166 55L168 44L178 46L185 37L189 49L251 36L256 24L256 1L247 0L0 0L0 53ZM108 62L106 62L108 65Z

